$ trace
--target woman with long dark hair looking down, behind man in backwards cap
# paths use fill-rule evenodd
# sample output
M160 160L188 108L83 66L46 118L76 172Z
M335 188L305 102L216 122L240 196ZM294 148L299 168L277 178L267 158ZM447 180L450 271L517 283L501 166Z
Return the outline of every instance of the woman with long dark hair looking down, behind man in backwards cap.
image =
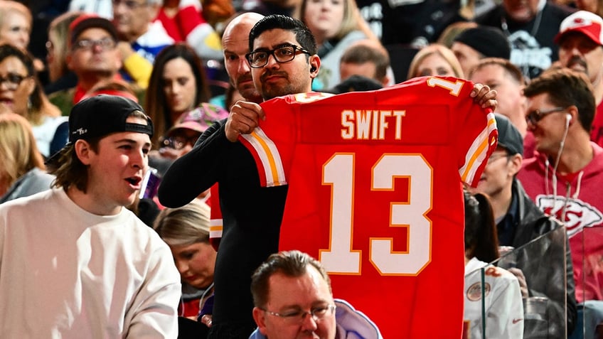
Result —
M146 95L146 113L153 120L152 142L174 126L181 114L210 99L208 80L201 59L186 43L176 43L156 56Z

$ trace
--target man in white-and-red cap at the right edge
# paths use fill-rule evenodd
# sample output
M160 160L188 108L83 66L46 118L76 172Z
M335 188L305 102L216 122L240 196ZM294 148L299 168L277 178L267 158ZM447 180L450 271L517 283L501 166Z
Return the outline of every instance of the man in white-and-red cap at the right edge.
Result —
M603 146L603 18L577 11L562 21L555 43L562 67L584 72L592 84L597 112L590 139Z

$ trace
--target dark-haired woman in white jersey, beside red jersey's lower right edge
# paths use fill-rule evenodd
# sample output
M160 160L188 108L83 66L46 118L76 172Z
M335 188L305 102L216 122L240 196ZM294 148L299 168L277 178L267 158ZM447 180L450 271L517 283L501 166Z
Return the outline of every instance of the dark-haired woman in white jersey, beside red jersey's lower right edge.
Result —
M463 338L523 338L519 282L509 271L488 264L498 259L496 223L489 198L481 193L465 192L464 195L464 321L467 325L464 331L471 335Z

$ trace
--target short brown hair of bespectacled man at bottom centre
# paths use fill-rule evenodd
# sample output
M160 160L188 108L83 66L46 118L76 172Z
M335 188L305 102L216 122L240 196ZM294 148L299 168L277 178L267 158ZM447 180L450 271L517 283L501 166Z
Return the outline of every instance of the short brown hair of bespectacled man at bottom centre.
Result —
M256 307L265 308L268 303L268 289L270 276L280 273L285 276L299 277L306 274L307 267L314 267L321 274L331 292L331 279L324 267L316 259L304 252L297 250L284 251L270 254L270 257L257 267L251 276L251 294Z

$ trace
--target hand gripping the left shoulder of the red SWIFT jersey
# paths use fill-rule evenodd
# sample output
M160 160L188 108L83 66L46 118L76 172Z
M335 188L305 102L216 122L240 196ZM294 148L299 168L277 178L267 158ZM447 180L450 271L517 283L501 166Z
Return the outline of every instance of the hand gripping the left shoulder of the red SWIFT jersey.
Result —
M235 142L239 134L250 134L260 124L260 119L264 120L266 116L259 104L239 100L230 109L225 126L226 139Z

